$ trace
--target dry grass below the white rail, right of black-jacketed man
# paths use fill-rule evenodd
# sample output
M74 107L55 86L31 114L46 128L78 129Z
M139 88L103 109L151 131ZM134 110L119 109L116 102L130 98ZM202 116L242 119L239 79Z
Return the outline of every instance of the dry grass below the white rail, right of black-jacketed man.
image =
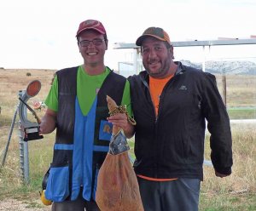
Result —
M217 178L212 167L204 166L201 210L256 210L256 124L231 124L233 137L232 174ZM209 134L206 159L210 159Z

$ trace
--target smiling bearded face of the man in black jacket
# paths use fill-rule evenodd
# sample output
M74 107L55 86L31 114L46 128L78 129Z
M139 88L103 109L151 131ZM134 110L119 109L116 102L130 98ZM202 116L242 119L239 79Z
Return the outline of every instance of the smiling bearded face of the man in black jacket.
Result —
M142 44L143 66L151 77L165 78L172 72L172 46L154 37L145 37Z

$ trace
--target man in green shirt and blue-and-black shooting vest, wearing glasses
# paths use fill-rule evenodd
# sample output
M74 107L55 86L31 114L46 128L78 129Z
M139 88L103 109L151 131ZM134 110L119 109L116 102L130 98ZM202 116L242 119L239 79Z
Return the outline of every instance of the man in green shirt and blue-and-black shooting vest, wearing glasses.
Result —
M84 64L56 72L40 124L42 134L56 128L45 190L54 211L99 210L95 202L97 174L112 134L106 96L118 105L131 104L126 78L104 64L108 37L102 23L83 21L76 37ZM127 110L131 114L130 106Z

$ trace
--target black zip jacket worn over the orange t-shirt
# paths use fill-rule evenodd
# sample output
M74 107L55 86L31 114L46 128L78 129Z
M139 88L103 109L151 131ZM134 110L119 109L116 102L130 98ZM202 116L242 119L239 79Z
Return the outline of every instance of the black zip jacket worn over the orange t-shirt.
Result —
M231 174L230 119L215 77L183 66L160 95L158 117L148 88L148 73L129 77L135 127L134 169L148 177L203 180L206 120L211 134L211 158L221 174Z

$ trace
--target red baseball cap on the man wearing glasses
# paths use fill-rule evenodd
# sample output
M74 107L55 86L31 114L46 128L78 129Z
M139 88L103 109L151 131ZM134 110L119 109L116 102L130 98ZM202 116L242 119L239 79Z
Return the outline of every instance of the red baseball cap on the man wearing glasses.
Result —
M79 30L77 31L76 37L78 37L79 34L82 31L85 31L85 30L88 30L88 29L96 30L96 31L100 32L103 35L107 34L104 26L102 25L102 23L100 21L98 21L98 20L84 20L79 25Z

